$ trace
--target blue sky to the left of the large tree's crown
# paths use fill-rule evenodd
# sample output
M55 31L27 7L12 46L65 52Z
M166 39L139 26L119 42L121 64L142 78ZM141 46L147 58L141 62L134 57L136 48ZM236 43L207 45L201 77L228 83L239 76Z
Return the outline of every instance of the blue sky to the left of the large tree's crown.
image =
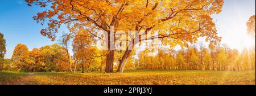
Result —
M5 35L7 53L5 58L11 58L13 50L18 43L27 45L29 50L51 45L47 37L40 34L44 28L37 24L32 16L42 12L42 8L27 6L23 0L4 0L0 3L0 32ZM60 29L60 32L66 30Z

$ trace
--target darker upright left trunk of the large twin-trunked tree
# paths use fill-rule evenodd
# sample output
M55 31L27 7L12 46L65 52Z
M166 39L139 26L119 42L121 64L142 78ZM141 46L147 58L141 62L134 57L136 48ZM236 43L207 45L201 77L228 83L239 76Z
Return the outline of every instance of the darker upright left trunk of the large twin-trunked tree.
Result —
M110 50L106 56L106 73L113 73L113 64L114 64L114 50Z

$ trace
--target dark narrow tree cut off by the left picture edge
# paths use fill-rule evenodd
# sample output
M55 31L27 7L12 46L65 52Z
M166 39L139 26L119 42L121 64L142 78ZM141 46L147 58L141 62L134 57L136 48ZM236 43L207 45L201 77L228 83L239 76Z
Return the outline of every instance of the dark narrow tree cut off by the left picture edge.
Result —
M6 53L6 41L5 38L3 38L3 34L0 33L0 66L1 64L4 63L4 59L5 59L5 53ZM0 68L1 70L2 68Z

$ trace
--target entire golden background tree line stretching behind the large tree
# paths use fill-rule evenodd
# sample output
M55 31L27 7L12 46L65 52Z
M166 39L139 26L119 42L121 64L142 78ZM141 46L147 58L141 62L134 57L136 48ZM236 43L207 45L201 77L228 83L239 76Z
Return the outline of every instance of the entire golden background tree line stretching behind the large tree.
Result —
M82 31L81 31L82 32ZM28 50L26 45L18 44L11 59L1 60L0 69L19 72L105 72L107 51L91 45L90 40L76 35L73 40L73 55L57 43ZM3 39L4 40L4 39ZM2 40L2 41L3 41ZM205 47L193 44L181 50L160 48L152 56L150 50L141 51L135 58L135 51L128 58L126 69L197 69L216 71L242 71L255 69L255 46L242 51L230 49L227 45ZM115 52L114 69L118 69L123 51ZM68 58L69 56L69 58Z

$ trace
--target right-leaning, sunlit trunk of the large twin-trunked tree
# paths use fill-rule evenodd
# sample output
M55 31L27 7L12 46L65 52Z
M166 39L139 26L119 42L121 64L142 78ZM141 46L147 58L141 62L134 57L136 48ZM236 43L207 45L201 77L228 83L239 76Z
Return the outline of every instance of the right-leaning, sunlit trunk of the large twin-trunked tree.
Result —
M130 54L131 54L131 50L126 49L125 54L123 54L120 64L118 66L117 72L123 73L123 69L125 68L125 64Z

